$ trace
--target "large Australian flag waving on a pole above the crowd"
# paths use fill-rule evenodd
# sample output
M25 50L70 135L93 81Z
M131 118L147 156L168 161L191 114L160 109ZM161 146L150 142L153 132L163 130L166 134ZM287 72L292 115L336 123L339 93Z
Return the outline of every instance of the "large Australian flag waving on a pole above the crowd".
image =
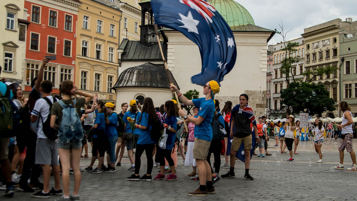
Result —
M200 49L202 69L191 77L194 84L218 83L236 62L236 43L231 28L205 0L151 0L155 23L180 31Z

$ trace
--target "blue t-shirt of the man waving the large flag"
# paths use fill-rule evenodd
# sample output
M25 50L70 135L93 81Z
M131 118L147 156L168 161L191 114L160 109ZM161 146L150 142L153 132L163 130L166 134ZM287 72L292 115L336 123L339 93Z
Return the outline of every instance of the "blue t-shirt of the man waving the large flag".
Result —
M215 111L213 99L200 98L193 99L193 104L198 108L198 116L205 118L200 125L195 126L195 137L201 140L212 140L212 119Z

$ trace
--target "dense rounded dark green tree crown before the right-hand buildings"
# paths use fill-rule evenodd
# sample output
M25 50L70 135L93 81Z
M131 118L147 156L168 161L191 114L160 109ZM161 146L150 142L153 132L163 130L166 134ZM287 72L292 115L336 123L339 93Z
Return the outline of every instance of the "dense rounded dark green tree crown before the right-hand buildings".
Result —
M335 110L335 107L333 107L335 101L330 98L330 93L325 89L324 85L300 83L291 82L287 89L280 91L281 108L288 109L289 114L303 111L308 112L310 115L321 115L324 111ZM290 106L292 111L289 109Z

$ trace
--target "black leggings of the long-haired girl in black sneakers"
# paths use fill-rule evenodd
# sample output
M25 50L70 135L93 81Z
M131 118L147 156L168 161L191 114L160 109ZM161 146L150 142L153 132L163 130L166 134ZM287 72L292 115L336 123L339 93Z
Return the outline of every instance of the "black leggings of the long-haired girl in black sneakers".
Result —
M146 153L147 159L147 171L146 174L151 175L152 166L154 166L154 161L152 160L152 152L154 151L154 144L146 144L146 145L136 145L136 152L135 152L135 174L139 175L141 160L140 157L142 153Z

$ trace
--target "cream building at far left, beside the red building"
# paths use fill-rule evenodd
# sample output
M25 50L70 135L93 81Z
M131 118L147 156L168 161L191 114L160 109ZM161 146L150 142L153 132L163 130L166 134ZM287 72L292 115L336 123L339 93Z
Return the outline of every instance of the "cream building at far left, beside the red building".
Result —
M7 77L11 82L19 82L24 88L22 75L25 69L26 30L30 23L27 21L24 0L1 1L0 12L3 15L0 20L1 77Z

